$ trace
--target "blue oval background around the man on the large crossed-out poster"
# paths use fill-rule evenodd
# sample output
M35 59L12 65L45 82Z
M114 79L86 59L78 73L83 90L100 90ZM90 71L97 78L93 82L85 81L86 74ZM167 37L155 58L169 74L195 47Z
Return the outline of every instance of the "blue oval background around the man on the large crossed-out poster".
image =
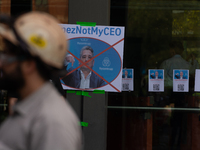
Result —
M119 75L122 67L122 61L118 52L108 43L98 39L88 37L69 39L69 51L79 59L81 49L85 46L93 49L93 57L98 55L94 58L94 64L91 67L92 70L95 71L98 76L103 77L110 83L115 80L115 78ZM106 51L104 52L104 50ZM77 68L79 67L80 63L76 58L74 59L75 62L73 64L73 68ZM67 66L67 69L71 67L72 64L70 63Z

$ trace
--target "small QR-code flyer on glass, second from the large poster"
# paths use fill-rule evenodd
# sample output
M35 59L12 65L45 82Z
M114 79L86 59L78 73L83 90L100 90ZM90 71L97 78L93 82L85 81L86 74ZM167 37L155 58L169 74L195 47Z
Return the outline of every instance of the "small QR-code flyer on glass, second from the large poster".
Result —
M149 69L149 92L164 92L163 69Z

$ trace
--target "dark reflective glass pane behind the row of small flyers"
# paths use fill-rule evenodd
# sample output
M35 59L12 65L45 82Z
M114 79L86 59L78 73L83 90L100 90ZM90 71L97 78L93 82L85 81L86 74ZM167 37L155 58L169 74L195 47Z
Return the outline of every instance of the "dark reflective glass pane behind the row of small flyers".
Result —
M135 74L134 91L109 93L108 150L199 149L199 5L111 0L111 25L126 27L123 67ZM164 69L164 92L149 92L149 69ZM189 70L188 92L173 91L173 69ZM181 71L176 81L186 81Z

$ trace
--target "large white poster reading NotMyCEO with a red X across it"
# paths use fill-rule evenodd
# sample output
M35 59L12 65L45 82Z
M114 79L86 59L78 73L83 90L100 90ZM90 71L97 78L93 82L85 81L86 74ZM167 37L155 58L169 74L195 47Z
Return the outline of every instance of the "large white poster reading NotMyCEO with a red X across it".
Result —
M124 27L61 26L69 41L63 88L121 92Z

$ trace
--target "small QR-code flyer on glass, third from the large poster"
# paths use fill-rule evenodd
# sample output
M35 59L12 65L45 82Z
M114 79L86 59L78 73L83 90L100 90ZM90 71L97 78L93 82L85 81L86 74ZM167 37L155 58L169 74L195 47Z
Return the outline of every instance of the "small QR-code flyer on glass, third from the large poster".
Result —
M189 70L173 70L173 91L189 91Z

